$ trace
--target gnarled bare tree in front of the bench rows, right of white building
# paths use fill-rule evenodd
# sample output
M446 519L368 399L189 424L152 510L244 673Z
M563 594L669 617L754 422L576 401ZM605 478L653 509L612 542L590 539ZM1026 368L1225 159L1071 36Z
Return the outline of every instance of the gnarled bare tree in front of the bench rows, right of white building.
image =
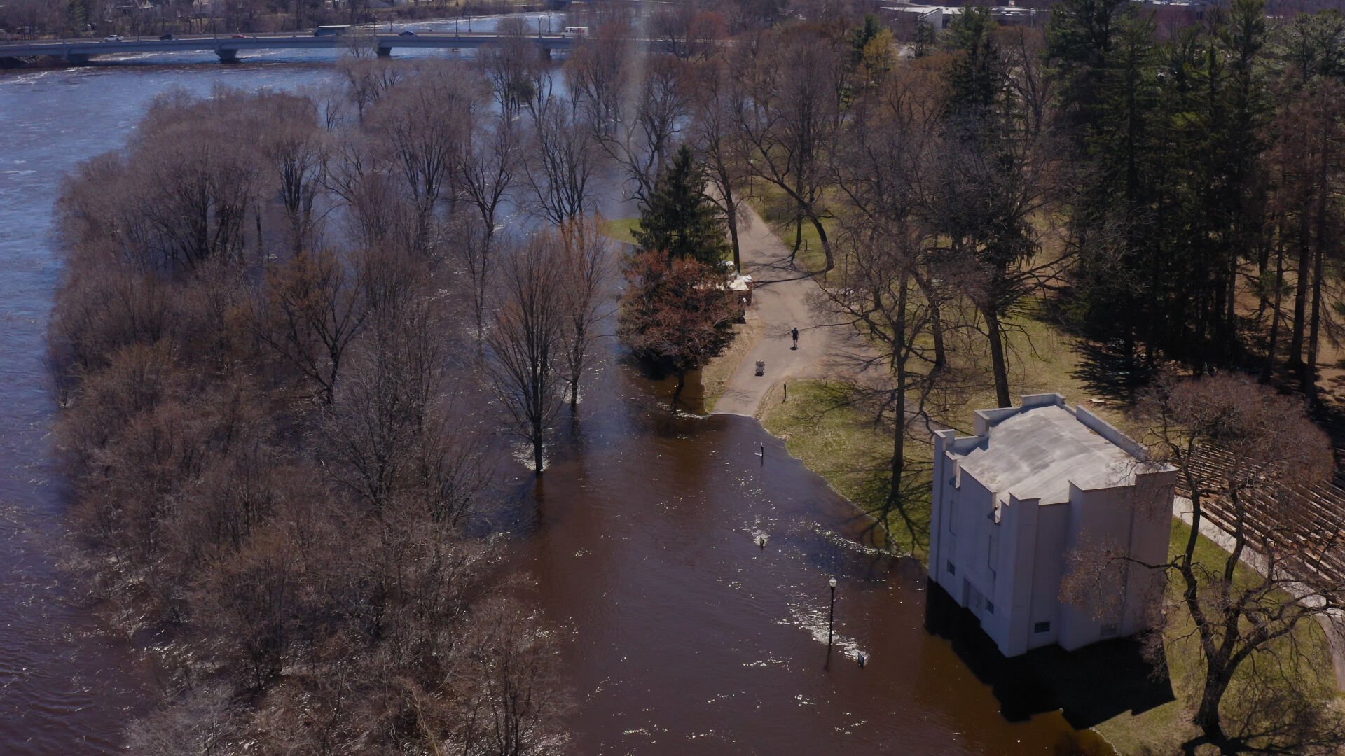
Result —
M1294 701L1287 709L1251 702L1241 732L1228 732L1224 710L1235 679L1252 679L1248 690L1259 694L1255 678L1266 674L1259 669L1274 670L1280 686L1299 685L1295 679L1302 678L1293 670L1303 654L1298 646L1301 631L1309 630L1303 626L1345 605L1340 569L1345 534L1334 526L1322 529L1321 504L1313 494L1332 471L1326 436L1313 426L1301 402L1235 375L1165 381L1143 410L1154 461L1176 467L1177 486L1189 495L1186 541L1177 545L1171 561L1141 565L1177 582L1176 607L1163 616L1176 623L1189 616L1190 638L1204 662L1192 716L1202 737L1189 745L1208 743L1224 752L1267 745L1333 751L1338 717L1322 716L1323 701L1310 686L1297 687L1289 700L1276 698L1280 705ZM1206 522L1224 533L1229 547L1215 558L1198 546ZM1099 565L1135 561L1106 552L1083 560L1093 565L1092 573L1077 570L1083 574L1098 574ZM1071 582L1088 581L1076 574ZM1161 658L1162 634L1153 640ZM1293 724L1284 718L1310 726L1284 729Z

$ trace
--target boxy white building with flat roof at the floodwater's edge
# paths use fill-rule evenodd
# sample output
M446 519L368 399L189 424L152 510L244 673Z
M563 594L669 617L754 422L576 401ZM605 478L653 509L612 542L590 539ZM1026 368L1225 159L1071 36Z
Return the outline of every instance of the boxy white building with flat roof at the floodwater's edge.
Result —
M1064 601L1061 578L1080 546L1166 561L1176 471L1146 461L1139 444L1060 394L978 410L975 433L935 434L929 577L1005 656L1143 630L1161 573L1092 560L1110 565L1112 588L1095 605Z

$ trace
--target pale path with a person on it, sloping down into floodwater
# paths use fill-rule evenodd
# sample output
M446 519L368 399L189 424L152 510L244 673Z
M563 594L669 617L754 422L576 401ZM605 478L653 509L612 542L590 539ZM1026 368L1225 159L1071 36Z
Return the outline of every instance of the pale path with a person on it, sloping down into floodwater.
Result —
M742 272L755 282L746 319L761 327L761 338L729 375L714 413L756 417L772 386L790 378L829 375L845 351L837 330L808 307L819 291L816 278L790 268L790 249L756 211L744 207L742 214L749 225L740 234L740 257ZM799 330L798 350L792 348L791 328ZM764 375L756 374L757 361L765 363Z

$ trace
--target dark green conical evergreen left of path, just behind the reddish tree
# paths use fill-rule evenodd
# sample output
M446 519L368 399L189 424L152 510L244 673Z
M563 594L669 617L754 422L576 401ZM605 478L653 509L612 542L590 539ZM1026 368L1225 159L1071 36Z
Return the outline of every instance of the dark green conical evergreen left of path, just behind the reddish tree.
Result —
M729 250L724 234L724 217L705 196L705 171L691 148L682 145L640 207L635 243L644 252L667 253L670 260L689 257L718 265Z

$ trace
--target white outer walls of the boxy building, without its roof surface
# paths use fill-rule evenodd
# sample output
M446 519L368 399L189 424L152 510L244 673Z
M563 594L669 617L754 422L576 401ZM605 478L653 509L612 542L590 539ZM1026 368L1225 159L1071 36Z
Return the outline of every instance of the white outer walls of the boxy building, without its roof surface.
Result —
M1040 406L1054 404L1050 398L1024 400L1026 406ZM1013 412L976 413L978 436L1007 414ZM1077 416L1131 453L1143 453L1128 439L1111 439L1115 429L1089 413ZM1150 601L1162 589L1161 573L1132 564L1119 569L1111 576L1115 589L1108 593L1119 597L1114 607L1064 603L1061 582L1068 556L1077 549L1096 553L1110 547L1161 564L1169 547L1176 472L1139 474L1134 486L1116 488L1081 491L1071 486L1068 502L1042 504L1009 496L997 506L997 494L948 457L950 451L964 453L979 441L975 436L958 439L954 430L936 434L931 580L976 616L1006 656L1052 643L1072 651L1142 630Z

